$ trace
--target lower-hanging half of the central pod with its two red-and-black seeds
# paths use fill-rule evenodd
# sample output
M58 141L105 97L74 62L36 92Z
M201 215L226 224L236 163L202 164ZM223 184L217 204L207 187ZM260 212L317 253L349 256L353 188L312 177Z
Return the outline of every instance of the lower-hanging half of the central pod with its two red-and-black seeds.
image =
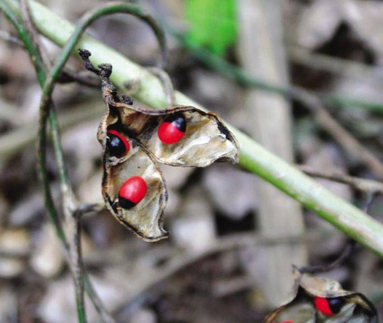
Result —
M116 219L145 241L166 238L162 214L167 192L162 174L137 140L113 128L114 118L102 118L98 140L103 146L102 195ZM111 145L111 135L116 144Z

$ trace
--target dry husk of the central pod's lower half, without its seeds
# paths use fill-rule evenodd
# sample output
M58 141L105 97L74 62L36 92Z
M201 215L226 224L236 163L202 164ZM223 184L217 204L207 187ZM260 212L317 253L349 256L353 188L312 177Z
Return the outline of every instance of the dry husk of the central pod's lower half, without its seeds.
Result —
M168 233L162 228L163 210L166 205L167 191L162 173L151 154L137 140L124 135L130 143L128 154L122 158L109 156L106 147L109 124L115 121L107 114L102 118L97 137L103 147L102 195L107 208L126 228L139 238L153 242L166 238ZM141 176L148 191L145 197L133 208L124 209L118 203L120 186L132 176Z

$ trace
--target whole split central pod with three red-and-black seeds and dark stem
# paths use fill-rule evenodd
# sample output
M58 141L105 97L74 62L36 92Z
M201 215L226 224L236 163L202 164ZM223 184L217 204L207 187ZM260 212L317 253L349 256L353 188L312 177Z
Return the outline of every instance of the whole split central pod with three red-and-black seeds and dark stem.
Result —
M214 113L190 106L157 111L134 106L130 97L119 97L111 84L111 65L97 69L90 63L88 51L78 53L85 67L102 80L107 109L97 138L103 147L106 206L141 239L165 238L162 214L167 192L156 162L195 167L215 161L237 163L237 141Z

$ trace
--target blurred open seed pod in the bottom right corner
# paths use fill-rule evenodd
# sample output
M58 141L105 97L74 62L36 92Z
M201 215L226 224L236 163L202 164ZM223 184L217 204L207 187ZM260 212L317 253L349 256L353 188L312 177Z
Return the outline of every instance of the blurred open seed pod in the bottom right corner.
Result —
M271 312L265 323L378 322L374 305L363 294L346 291L334 280L295 274L292 297Z

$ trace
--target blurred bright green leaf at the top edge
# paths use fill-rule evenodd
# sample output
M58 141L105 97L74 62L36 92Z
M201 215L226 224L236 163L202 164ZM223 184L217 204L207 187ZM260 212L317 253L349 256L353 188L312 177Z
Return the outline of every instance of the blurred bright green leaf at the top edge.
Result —
M236 38L235 0L187 0L187 40L223 55Z

